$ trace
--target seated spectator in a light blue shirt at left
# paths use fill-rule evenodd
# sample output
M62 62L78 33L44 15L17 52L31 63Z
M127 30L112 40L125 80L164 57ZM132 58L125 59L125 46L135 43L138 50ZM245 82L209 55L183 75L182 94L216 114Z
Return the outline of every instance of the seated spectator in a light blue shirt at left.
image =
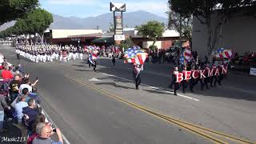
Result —
M26 97L24 95L20 96L18 98L18 103L15 104L15 111L16 111L16 114L17 114L17 118L18 118L18 122L22 122L22 109L27 105L27 102L26 102Z

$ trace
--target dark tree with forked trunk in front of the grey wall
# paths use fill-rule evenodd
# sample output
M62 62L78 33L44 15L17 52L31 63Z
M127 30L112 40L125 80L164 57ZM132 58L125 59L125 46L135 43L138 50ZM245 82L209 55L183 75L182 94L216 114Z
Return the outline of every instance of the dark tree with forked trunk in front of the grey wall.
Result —
M242 6L254 5L254 0L169 0L171 10L188 18L193 15L207 27L207 48L208 55L215 49L218 43L222 26L235 14L235 10ZM217 24L213 26L212 16L216 15Z

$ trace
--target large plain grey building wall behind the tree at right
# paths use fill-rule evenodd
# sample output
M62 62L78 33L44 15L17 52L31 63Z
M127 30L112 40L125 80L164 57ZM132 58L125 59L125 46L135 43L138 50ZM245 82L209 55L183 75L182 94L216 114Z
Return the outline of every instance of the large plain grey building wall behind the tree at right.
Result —
M216 25L217 18L212 17L212 24ZM236 14L222 28L217 48L231 49L238 54L244 54L245 51L255 51L256 46L256 18ZM193 20L193 50L197 50L202 58L207 54L207 28L202 25L197 18Z

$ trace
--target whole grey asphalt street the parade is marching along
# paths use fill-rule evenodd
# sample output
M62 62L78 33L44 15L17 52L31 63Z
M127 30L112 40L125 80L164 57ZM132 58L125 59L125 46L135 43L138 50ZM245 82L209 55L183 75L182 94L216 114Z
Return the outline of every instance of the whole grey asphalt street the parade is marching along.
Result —
M14 48L0 46L0 52L14 65L18 63ZM210 143L107 93L186 122L256 141L255 77L230 71L224 86L204 91L196 87L194 94L179 92L177 97L167 88L170 64L146 64L142 86L134 90L130 66L121 60L112 66L110 58L98 59L96 73L80 60L36 64L22 58L20 62L31 78L39 78L42 106L70 143Z

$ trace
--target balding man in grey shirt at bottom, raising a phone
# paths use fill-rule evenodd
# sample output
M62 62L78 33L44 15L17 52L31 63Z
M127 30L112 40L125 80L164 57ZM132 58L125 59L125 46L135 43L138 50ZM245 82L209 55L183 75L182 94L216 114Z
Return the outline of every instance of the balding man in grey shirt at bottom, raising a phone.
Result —
M58 142L54 142L50 136L54 134L52 128L49 125L43 126L41 129L38 127L41 123L37 126L37 133L39 134L37 138L34 138L33 144L41 144L41 143L51 143L51 144L62 144L62 133L59 129L56 129L56 134L58 135Z

